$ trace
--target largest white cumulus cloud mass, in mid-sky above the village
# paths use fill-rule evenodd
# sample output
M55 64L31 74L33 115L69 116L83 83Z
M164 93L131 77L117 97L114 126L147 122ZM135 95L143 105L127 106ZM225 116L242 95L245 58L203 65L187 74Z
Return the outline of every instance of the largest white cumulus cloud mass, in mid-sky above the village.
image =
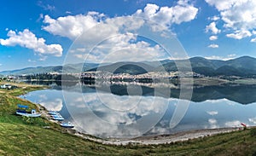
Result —
M138 39L137 33L149 28L164 35L172 24L194 20L197 12L187 0L180 0L172 7L148 3L134 14L111 18L98 12L56 19L45 15L43 29L75 40L69 52L72 59L79 61L85 58L96 62L166 59L160 45Z

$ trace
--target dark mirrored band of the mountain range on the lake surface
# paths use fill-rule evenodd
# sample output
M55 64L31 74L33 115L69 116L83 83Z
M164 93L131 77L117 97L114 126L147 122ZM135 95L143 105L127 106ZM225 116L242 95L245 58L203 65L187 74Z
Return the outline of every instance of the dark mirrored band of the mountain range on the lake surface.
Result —
M78 90L78 83L72 85L61 85L53 82L37 82L36 84L44 84L52 86L55 90L61 90L63 87L65 90L80 91ZM162 97L179 98L179 89L167 89L167 88L151 88L148 86L141 86L135 84L92 84L92 85L81 85L82 92L95 92L103 91L112 93L114 95L155 95L154 91L160 92L157 95ZM166 90L171 90L171 95L166 93ZM161 92L162 91L162 92ZM183 90L186 91L186 90ZM205 87L194 87L191 101L201 102L207 100L218 100L228 99L230 101L236 101L241 104L250 104L256 102L256 85L213 85ZM189 99L187 99L189 100Z

